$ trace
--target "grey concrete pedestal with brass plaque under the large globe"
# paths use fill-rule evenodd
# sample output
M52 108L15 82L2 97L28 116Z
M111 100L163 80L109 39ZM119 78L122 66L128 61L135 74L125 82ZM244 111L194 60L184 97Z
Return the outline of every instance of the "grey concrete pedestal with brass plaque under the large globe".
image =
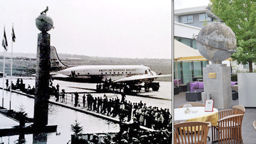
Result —
M208 64L203 67L203 89L204 93L210 93L214 99L214 108L230 107L232 105L230 67L226 64Z

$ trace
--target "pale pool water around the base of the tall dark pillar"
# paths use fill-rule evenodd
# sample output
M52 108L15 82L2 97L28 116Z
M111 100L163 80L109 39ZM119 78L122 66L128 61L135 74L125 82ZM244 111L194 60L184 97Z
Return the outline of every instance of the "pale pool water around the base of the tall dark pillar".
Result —
M21 97L26 98L26 97ZM30 108L30 103L23 103L26 108ZM98 133L98 132L118 132L119 125L113 122L108 122L101 118L94 117L92 115L86 115L81 112L76 112L71 109L67 109L61 106L49 104L49 125L58 125L56 133L39 133L39 134L25 134L14 135L10 137L3 137L5 144L67 144L71 139L71 124L78 119L83 127L83 133ZM40 138L42 137L42 138ZM24 138L25 141L19 141ZM23 142L23 143L22 143Z

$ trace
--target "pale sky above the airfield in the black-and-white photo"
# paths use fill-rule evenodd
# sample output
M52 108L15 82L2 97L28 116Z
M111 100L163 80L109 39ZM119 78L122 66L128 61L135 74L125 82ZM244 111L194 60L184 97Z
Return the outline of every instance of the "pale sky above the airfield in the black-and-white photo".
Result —
M58 53L116 58L172 56L171 0L0 0L0 38L5 24L8 52L13 23L13 52L36 53L40 31L35 19L46 6L55 27L48 32L51 45Z

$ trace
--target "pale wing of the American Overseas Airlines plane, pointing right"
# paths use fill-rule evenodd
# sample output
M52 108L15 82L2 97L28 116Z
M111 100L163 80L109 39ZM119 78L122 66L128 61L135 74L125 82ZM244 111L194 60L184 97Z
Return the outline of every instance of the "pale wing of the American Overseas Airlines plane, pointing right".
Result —
M158 78L158 77L171 77L171 74L165 74L165 75L151 75L151 74L142 74L142 75L136 75L131 77L125 77L119 80L114 80L113 82L125 82L125 81L132 81L132 80L145 80L145 79L152 79L152 78Z

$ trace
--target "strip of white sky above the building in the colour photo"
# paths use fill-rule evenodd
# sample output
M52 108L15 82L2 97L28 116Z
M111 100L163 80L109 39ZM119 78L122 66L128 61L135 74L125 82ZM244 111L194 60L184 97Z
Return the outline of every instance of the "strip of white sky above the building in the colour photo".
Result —
M174 0L174 10L189 7L207 6L210 0Z

